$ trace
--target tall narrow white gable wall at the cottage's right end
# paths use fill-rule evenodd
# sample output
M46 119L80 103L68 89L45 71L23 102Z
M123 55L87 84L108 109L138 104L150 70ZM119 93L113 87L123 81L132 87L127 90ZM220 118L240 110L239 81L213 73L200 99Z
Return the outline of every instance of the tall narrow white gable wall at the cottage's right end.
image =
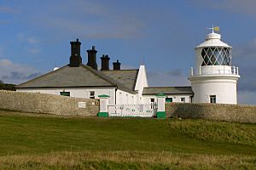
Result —
M140 65L135 90L137 91L137 104L143 103L143 88L148 88L148 77L145 65Z

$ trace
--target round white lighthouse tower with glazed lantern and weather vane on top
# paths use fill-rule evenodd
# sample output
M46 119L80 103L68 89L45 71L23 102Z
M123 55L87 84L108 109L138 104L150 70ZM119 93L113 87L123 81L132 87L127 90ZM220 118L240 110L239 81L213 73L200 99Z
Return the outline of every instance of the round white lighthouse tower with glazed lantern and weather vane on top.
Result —
M238 67L231 65L231 48L215 33L218 27L195 48L195 70L189 81L194 91L193 103L237 104Z

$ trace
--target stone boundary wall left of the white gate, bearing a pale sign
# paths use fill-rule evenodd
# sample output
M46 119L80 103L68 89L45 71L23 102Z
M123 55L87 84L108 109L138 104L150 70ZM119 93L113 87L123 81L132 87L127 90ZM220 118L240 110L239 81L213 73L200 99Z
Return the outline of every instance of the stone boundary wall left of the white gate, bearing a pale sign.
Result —
M0 90L0 109L3 110L62 116L96 116L99 111L98 103L98 99Z

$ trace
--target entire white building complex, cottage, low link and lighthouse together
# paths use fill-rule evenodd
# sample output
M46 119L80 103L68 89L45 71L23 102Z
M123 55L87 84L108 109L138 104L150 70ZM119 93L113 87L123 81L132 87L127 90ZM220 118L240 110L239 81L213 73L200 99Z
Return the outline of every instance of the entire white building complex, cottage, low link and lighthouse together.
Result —
M149 104L156 102L156 94L166 94L166 102L236 104L238 68L231 65L231 47L213 31L206 41L195 48L195 70L191 69L191 87L148 87L144 65L139 69L121 70L119 60L109 70L109 57L102 55L102 68L97 69L96 49L88 53L84 65L80 56L79 39L71 43L68 65L21 83L18 92L67 95L98 99L110 96L109 104Z

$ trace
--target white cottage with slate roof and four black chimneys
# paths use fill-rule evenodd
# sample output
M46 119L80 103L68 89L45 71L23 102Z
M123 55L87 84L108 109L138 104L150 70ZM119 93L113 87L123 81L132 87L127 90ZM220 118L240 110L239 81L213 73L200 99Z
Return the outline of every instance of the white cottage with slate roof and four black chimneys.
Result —
M16 86L18 92L66 95L77 98L98 99L99 95L110 96L109 104L141 104L143 88L148 87L145 66L135 70L121 70L119 60L109 70L108 55L102 56L102 69L97 70L96 49L88 53L84 65L80 56L79 39L71 43L70 63L43 76Z

